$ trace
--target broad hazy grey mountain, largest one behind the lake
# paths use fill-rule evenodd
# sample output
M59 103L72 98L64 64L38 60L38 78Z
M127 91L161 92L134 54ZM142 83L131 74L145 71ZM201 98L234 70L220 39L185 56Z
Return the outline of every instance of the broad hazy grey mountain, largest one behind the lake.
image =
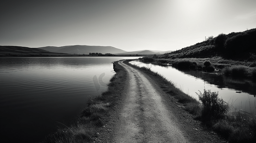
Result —
M88 45L72 45L72 46L62 46L62 47L40 47L38 49L43 49L46 51L58 52L58 53L69 53L69 54L89 54L90 52L98 52L98 53L120 53L126 52L118 48L114 48L111 46L88 46Z

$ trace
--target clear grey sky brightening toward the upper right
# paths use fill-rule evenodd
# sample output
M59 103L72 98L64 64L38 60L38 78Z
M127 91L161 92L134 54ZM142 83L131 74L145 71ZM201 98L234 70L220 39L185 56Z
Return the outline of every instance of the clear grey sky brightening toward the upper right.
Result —
M1 0L0 45L178 50L256 28L256 0Z

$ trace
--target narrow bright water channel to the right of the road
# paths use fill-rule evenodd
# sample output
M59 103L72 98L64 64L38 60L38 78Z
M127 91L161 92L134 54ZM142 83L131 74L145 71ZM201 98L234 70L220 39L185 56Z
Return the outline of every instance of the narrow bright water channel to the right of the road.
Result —
M219 97L234 108L256 113L255 82L197 71L179 71L172 66L145 64L140 61L131 61L130 63L158 72L173 82L177 88L196 99L199 99L196 92L203 93L204 89L211 90L211 92L218 92Z

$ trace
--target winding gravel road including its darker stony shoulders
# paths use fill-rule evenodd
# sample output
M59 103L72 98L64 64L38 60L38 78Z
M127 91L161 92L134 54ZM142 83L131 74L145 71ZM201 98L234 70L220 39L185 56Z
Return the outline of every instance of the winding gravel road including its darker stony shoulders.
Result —
M128 72L122 101L106 125L109 143L222 143L145 73L119 61Z

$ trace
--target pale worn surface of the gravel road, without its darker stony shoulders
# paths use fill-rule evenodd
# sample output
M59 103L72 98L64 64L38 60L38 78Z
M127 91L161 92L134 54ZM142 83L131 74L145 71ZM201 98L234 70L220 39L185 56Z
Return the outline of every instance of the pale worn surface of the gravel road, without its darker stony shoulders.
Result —
M112 142L189 143L147 78L122 61L119 64L128 72L129 83Z

